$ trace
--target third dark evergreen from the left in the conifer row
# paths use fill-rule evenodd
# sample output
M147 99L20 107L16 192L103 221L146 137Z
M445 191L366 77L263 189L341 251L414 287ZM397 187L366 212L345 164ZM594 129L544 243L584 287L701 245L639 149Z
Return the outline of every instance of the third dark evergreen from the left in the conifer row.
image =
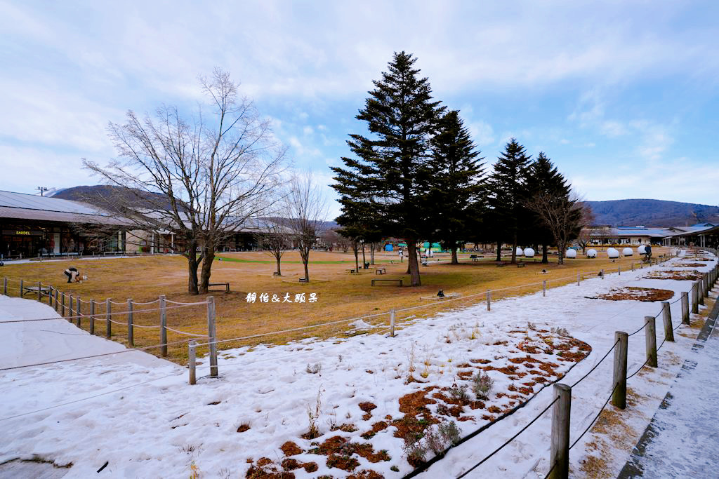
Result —
M490 177L490 203L498 228L497 257L503 241L512 242L512 264L517 262L518 234L526 220L528 168L531 157L515 138L506 144Z

